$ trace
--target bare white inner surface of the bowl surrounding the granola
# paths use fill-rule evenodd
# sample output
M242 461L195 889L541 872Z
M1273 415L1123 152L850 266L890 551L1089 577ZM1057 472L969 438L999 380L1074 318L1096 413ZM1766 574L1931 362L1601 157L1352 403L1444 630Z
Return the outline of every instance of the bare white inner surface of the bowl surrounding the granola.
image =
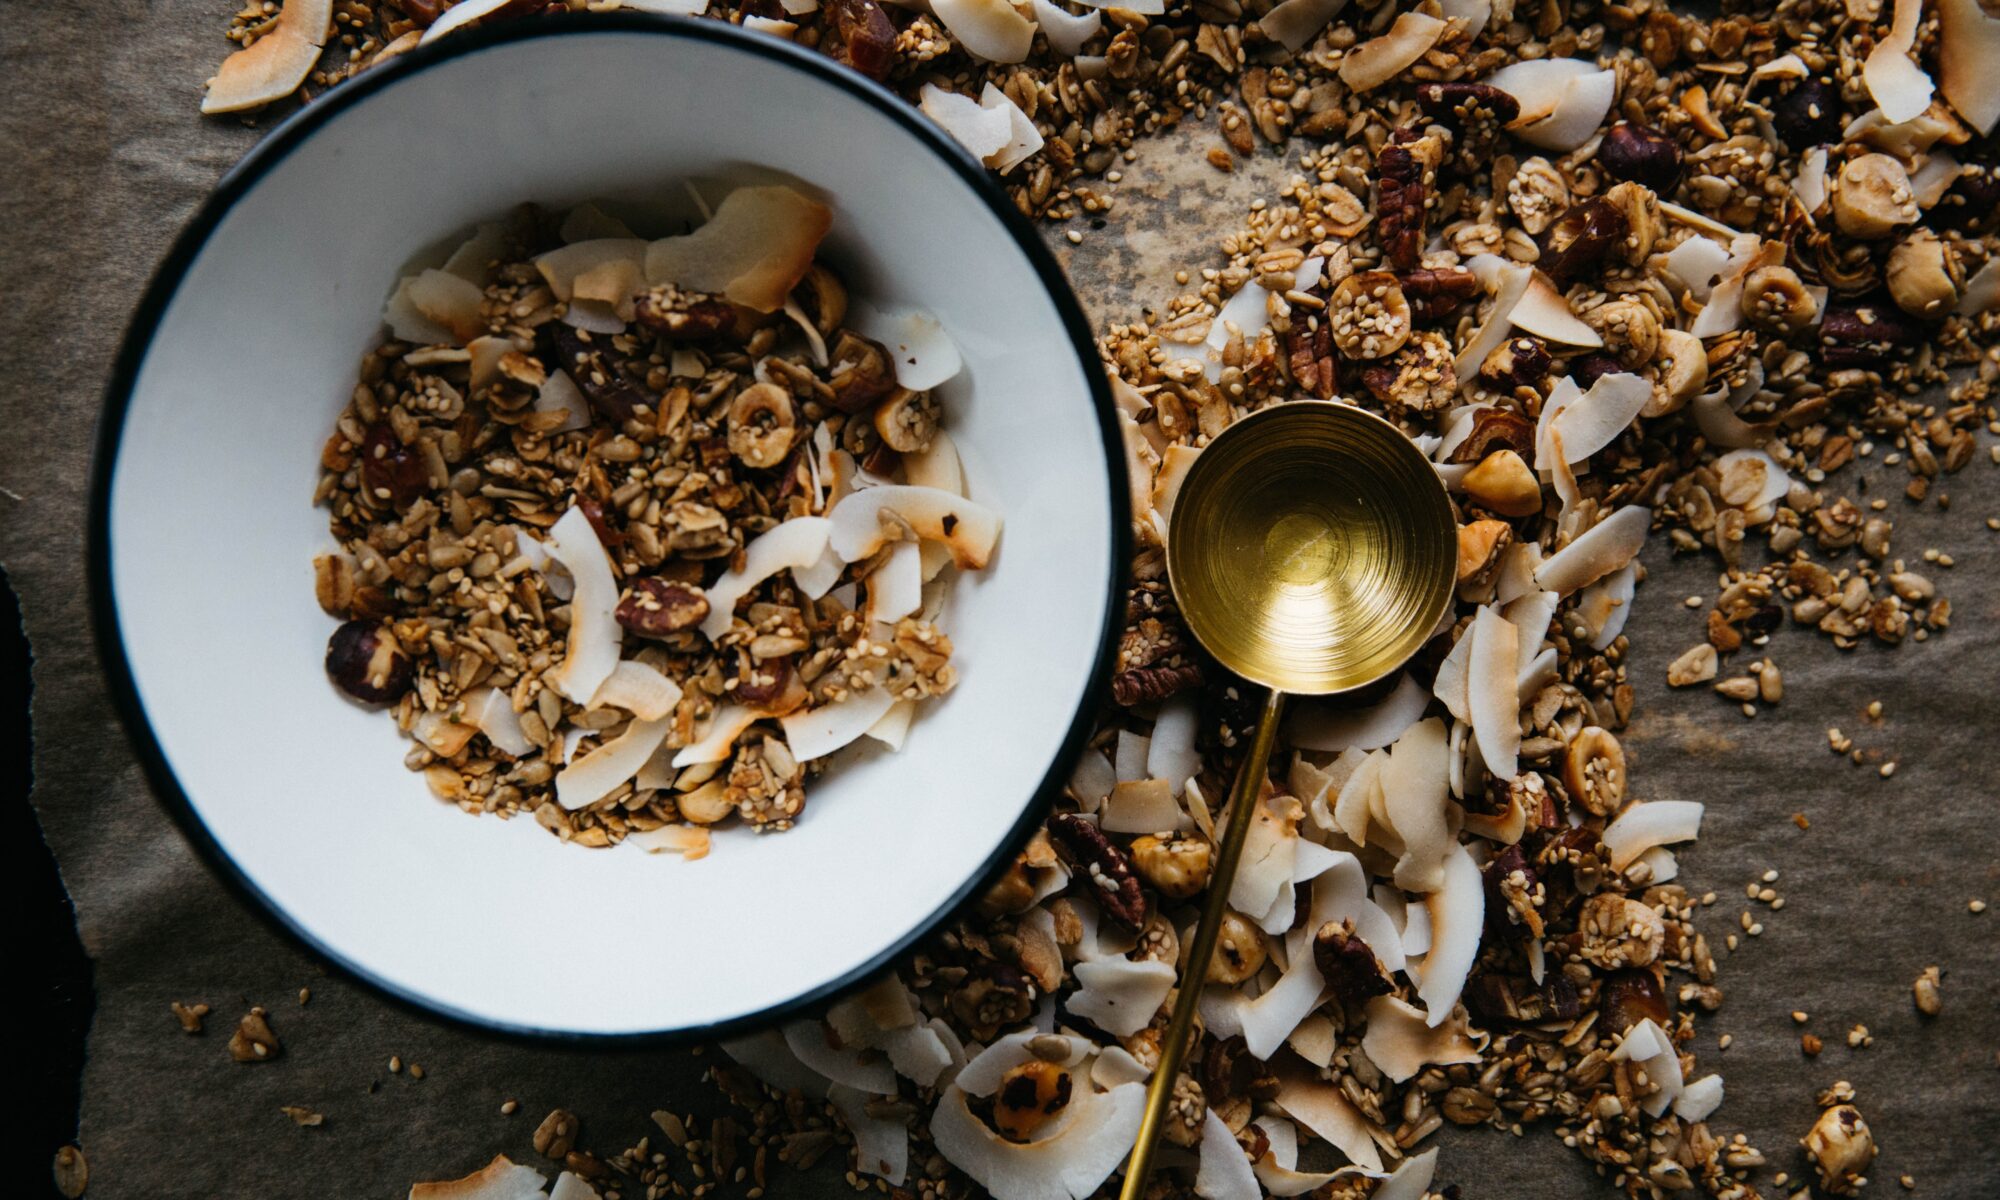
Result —
M104 468L136 698L252 890L342 964L442 1012L644 1034L850 982L1008 852L1088 720L1124 518L1074 306L1050 298L1062 284L1038 274L1046 258L920 118L744 40L628 22L474 36L380 68L274 136L156 294ZM464 816L404 770L394 724L320 666L334 622L312 598L312 556L332 546L310 506L316 460L382 300L424 246L522 200L648 200L744 164L820 188L856 294L934 312L964 352L946 422L1006 532L952 600L960 686L900 754L818 780L794 830L718 836L700 862Z

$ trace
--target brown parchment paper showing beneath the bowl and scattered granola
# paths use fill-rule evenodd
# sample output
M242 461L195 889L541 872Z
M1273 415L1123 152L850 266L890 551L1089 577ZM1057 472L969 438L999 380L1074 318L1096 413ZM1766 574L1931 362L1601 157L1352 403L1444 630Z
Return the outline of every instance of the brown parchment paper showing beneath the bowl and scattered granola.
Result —
M142 282L194 204L256 138L196 116L200 82L228 50L222 0L14 0L0 6L0 270L10 320L0 342L0 558L22 592L36 654L36 806L96 958L98 1010L84 1078L90 1196L400 1196L412 1180L462 1174L494 1152L538 1162L530 1132L552 1106L584 1122L582 1144L616 1152L670 1106L716 1112L690 1052L574 1054L486 1040L394 1008L280 940L232 900L168 824L110 714L84 610L84 488L110 356ZM1124 320L1178 288L1252 196L1290 168L1264 152L1238 174L1202 162L1216 134L1194 122L1126 164L1118 208L1072 248L1086 308ZM1078 226L1084 228L1084 226ZM1988 1200L2000 1190L2000 472L1984 452L1946 480L1950 512L1900 500L1902 468L1870 468L1890 498L1896 548L1958 566L1928 570L1956 602L1948 636L1896 652L1842 654L1786 628L1772 656L1786 698L1744 720L1702 688L1670 692L1666 664L1700 638L1688 594L1712 594L1718 564L1646 552L1650 580L1628 628L1638 718L1626 738L1644 798L1708 802L1684 882L1714 890L1722 1010L1698 1042L1728 1100L1712 1126L1742 1130L1798 1186L1796 1148L1812 1094L1852 1080L1882 1144L1872 1194ZM1864 706L1882 700L1884 718ZM218 696L218 708L232 702ZM1892 780L1826 748L1840 726L1898 762ZM1790 820L1804 812L1802 832ZM1780 872L1782 912L1756 906L1762 938L1720 950L1744 884ZM1920 1020L1910 982L1944 968L1944 1014ZM552 970L566 964L552 952ZM610 978L616 978L612 972ZM312 1000L298 1004L298 990ZM190 1038L172 1000L214 1008ZM284 1056L238 1066L224 1042L250 1006L272 1012ZM1790 1012L1812 1014L1826 1052L1804 1058ZM1868 1050L1846 1030L1866 1022ZM1720 1034L1734 1044L1716 1050ZM390 1056L424 1068L388 1072ZM520 1112L502 1116L502 1100ZM312 1106L296 1128L282 1104ZM1596 1196L1608 1186L1554 1136L1442 1134L1438 1184L1462 1196ZM54 1152L48 1146L46 1152ZM548 1164L540 1164L548 1166ZM788 1174L780 1174L788 1178ZM834 1194L836 1174L774 1188Z

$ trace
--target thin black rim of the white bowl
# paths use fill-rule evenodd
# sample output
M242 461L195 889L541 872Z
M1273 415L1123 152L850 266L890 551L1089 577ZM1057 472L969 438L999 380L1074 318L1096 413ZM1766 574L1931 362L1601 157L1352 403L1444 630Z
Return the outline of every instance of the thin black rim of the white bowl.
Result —
M930 146L932 154L944 160L960 180L978 196L988 210L1000 220L1008 236L1016 242L1016 248L1026 256L1028 264L1034 268L1036 276L1042 280L1050 302L1056 306L1056 314L1062 320L1068 336L1070 348L1078 356L1084 380L1090 388L1090 402L1096 408L1098 426L1104 440L1104 460L1106 460L1106 484L1110 488L1110 576L1106 578L1104 596L1104 616L1098 630L1098 652L1092 666L1090 684L1084 688L1084 696L1078 702L1076 714L1070 720L1070 728L1064 734L1060 748L1056 750L1048 772L1042 776L1040 786L1034 796L1022 808L1020 818L1014 822L1008 836L1000 842L994 854L976 870L956 894L952 894L944 904L930 912L924 920L916 922L904 936L896 938L890 946L870 956L866 962L854 966L846 974L810 988L790 1000L772 1004L758 1012L728 1018L714 1024L702 1026L676 1026L660 1030L636 1030L636 1032L578 1032L560 1028L540 1028L532 1024L510 1024L488 1020L448 1004L440 1004L428 996L422 996L400 984L392 984L366 966L352 962L326 946L312 930L300 926L292 914L282 910L264 890L252 880L214 840L202 818L194 812L188 794L182 790L180 780L166 762L166 754L160 748L160 740L146 718L144 706L138 698L138 688L132 678L132 664L126 658L124 634L118 626L118 608L112 592L112 570L110 570L110 488L112 476L116 472L118 446L124 434L126 412L132 404L132 388L138 382L138 372L146 364L146 356L152 348L152 338L158 332L160 320L166 308L172 304L174 296L180 292L180 284L206 248L210 234L224 216L242 200L256 184L280 162L284 162L292 150L302 146L320 126L332 122L348 108L364 102L372 94L394 86L396 82L414 76L418 72L430 70L442 62L456 58L466 58L478 54L480 50L490 50L494 46L506 46L514 42L530 42L538 38L556 36L586 36L586 34L652 34L662 38L684 38L694 42L708 42L716 48L736 50L744 54L758 54L762 58L784 64L790 70L804 72L816 80L840 88L850 96L876 108L890 122L898 124L914 136L918 142ZM686 1042L696 1038L714 1038L730 1032L750 1030L770 1026L772 1022L796 1014L800 1010L812 1008L826 1000L832 1000L844 992L860 988L862 984L874 980L884 968L890 968L900 960L914 944L930 936L940 924L958 914L966 904L980 896L986 886L1006 866L1012 862L1014 854L1028 840L1032 830L1040 824L1046 806L1060 794L1064 782L1070 776L1078 756L1084 750L1084 742L1090 736L1092 718L1098 704L1102 702L1104 690L1110 680L1110 666L1118 644L1118 632L1122 628L1120 596L1126 586L1126 570L1130 560L1130 502L1124 466L1124 438L1118 428L1116 406L1112 402L1110 384L1104 378L1104 368L1098 362L1096 342L1090 334L1090 322L1084 318L1082 306L1070 292L1068 280L1062 268L1056 264L1054 256L1042 244L1040 234L1026 216L1006 198L998 184L990 178L986 168L974 160L964 148L950 140L940 128L930 124L922 114L916 112L908 102L894 96L884 86L874 80L800 46L794 46L782 38L772 38L766 34L744 32L732 24L720 20L698 20L698 18L678 18L662 14L642 14L642 12L614 12L614 14L572 14L572 16L550 16L550 18L526 18L516 22L480 26L452 34L430 46L418 46L416 50L392 58L368 72L348 80L324 96L312 100L306 108L294 112L284 122L280 122L268 136L264 136L244 158L222 176L216 190L202 202L196 214L174 238L172 248L160 262L140 298L138 308L132 314L132 322L126 328L124 342L118 348L118 358L112 364L110 386L104 398L104 412L98 418L96 450L90 470L90 522L88 522L88 546L86 546L86 568L90 580L90 620L92 632L96 636L98 654L104 660L104 674L110 684L112 704L126 728L126 736L138 754L140 766L146 772L146 780L152 786L154 796L162 802L174 822L180 826L182 834L194 844L196 852L214 868L214 872L224 880L224 884L236 892L240 898L250 902L250 908L258 912L268 924L282 930L286 936L304 944L312 954L328 962L340 974L358 980L366 988L374 990L388 1000L414 1008L418 1012L444 1018L448 1022L466 1026L476 1032L500 1034L508 1038L524 1038L542 1044L570 1044L586 1048L602 1046L656 1046L670 1042ZM316 648L306 648L304 652L316 654Z

